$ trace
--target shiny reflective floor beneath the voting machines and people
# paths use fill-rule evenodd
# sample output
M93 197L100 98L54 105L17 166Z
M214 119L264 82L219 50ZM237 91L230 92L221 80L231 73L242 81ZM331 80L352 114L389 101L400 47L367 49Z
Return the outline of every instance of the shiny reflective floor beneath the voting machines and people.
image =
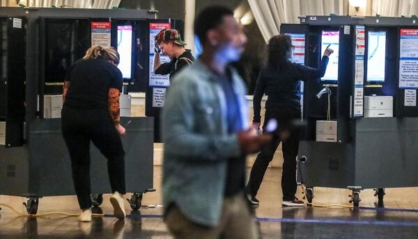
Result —
M109 195L104 195L104 203L97 209L97 213L105 216L95 217L90 223L57 215L18 217L2 206L0 238L171 238L158 206L161 167L155 167L154 171L157 192L149 192L143 199L143 204L150 208L129 211L124 222L111 216ZM263 238L418 238L418 188L387 189L383 205L376 204L373 190L364 190L360 207L355 210L282 208L280 177L280 169L268 169L258 195L261 204L256 215ZM300 191L297 196L302 198ZM314 203L349 206L349 194L348 190L315 188ZM24 201L22 197L0 196L0 204L13 206L19 213L25 213ZM77 213L77 200L73 196L40 199L38 213L54 211Z

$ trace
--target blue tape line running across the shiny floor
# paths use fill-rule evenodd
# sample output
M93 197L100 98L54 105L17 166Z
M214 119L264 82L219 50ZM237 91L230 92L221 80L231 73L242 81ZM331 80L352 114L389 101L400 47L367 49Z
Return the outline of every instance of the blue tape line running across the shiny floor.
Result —
M104 217L114 217L114 215L106 214ZM127 215L127 218L157 218L161 219L162 215ZM399 221L371 221L371 220L342 220L342 219L304 219L304 218L279 218L279 217L257 217L258 222L285 222L285 223L317 223L317 224L350 224L350 225L366 225L366 226L417 226L418 222L399 222Z

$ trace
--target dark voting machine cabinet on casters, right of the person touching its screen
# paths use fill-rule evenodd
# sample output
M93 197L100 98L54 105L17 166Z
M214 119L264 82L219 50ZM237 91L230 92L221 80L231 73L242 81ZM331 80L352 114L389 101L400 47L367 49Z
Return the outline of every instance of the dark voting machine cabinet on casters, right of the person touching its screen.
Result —
M361 190L375 188L382 202L385 188L418 186L418 108L405 105L405 90L399 85L401 31L417 28L417 21L406 17L308 16L300 24L281 25L281 33L305 36L304 64L309 67L318 67L322 31L339 32L338 79L309 81L303 89L306 130L297 156L297 181L306 186L310 203L314 187L348 188L353 191L350 202L359 206ZM380 66L384 81L368 81L369 59L376 53L368 49L369 33L374 32L385 35ZM330 101L327 94L316 97L326 86ZM393 97L393 117L364 116L365 97L374 96ZM329 119L336 121L336 139L320 142L324 140L316 138L316 121Z

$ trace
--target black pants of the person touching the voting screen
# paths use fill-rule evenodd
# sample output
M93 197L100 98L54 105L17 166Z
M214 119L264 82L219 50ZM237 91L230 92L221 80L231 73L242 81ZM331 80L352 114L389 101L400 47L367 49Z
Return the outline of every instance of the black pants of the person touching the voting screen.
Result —
M277 110L267 109L265 112L265 120L263 124L263 131L269 119L277 119L279 123L279 130L289 130L290 136L282 144L283 152L283 173L281 174L281 190L283 192L284 201L292 201L296 193L296 156L299 149L300 133L296 127L292 126L295 119L300 119L301 112L299 108L279 108ZM249 181L247 184L247 193L250 195L257 195L261 182L265 174L265 170L272 161L274 152L279 146L280 140L275 140L261 150L257 155L256 161L251 168L249 174Z

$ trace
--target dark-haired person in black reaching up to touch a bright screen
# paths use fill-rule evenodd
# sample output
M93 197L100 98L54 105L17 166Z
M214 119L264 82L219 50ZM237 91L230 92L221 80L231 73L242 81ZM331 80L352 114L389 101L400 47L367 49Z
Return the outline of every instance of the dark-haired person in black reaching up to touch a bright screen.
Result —
M256 194L260 188L265 170L274 156L279 143L282 141L283 174L281 175L281 190L283 192L283 206L303 206L303 201L295 197L296 193L296 156L299 147L299 135L296 129L291 129L294 120L301 118L300 81L318 79L325 74L328 56L333 52L325 49L324 56L318 69L291 63L292 41L288 35L276 35L268 42L267 64L258 76L254 91L254 119L253 128L260 129L261 98L268 95L265 103L265 119L263 129L269 119L276 119L279 123L281 139L275 140L265 147L256 158L251 169L247 184L247 196L252 204L258 204Z

